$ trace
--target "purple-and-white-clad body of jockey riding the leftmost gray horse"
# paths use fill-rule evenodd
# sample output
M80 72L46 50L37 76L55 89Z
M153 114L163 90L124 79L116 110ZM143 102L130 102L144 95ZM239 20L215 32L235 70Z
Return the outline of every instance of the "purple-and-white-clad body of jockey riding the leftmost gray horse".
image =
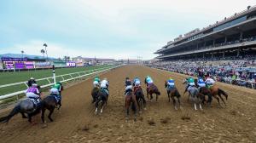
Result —
M26 89L26 98L29 98L33 103L38 106L38 103L41 101L40 92L38 90L38 84L32 83L32 86Z

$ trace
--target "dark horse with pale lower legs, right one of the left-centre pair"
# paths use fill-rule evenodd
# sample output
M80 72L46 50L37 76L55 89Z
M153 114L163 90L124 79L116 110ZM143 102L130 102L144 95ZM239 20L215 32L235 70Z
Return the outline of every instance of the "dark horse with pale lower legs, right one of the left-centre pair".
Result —
M97 94L96 103L95 103L95 106L96 106L95 113L96 114L98 112L98 106L99 106L100 103L102 105L101 113L103 112L104 106L107 106L108 94L107 94L107 91L105 91L105 90L107 90L107 89L100 89L98 94Z

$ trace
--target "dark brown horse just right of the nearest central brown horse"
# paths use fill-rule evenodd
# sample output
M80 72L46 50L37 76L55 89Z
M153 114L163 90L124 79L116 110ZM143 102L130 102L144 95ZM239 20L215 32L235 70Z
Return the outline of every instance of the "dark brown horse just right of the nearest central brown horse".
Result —
M134 89L134 94L137 100L137 106L139 112L142 112L142 109L146 109L146 100L144 99L143 89L141 87L136 87Z

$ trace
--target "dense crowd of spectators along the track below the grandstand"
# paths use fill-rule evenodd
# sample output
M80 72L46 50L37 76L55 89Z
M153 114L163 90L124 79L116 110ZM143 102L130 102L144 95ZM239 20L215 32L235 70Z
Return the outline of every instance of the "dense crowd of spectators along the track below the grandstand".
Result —
M256 89L256 57L253 56L158 61L148 66L195 77L212 76L219 82Z

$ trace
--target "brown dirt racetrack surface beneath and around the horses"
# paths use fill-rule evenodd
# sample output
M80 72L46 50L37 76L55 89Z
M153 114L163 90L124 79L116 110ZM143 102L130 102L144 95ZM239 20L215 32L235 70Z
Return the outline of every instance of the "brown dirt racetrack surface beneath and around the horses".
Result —
M132 120L125 123L125 77L143 79L146 75L153 77L160 89L159 101L148 103L148 110L136 123ZM175 111L167 100L164 81L173 77L182 93L183 75L144 66L125 66L101 77L110 81L108 106L102 115L94 115L94 106L90 104L92 81L87 80L63 92L63 106L61 111L55 111L53 123L44 127L37 116L34 120L38 124L32 126L17 115L8 125L0 124L0 142L256 142L256 91L253 89L218 83L230 95L227 107L219 108L213 100L212 108L195 112L185 96L182 108ZM3 114L6 112L1 117ZM190 119L183 120L183 117ZM149 125L148 121L155 124Z

